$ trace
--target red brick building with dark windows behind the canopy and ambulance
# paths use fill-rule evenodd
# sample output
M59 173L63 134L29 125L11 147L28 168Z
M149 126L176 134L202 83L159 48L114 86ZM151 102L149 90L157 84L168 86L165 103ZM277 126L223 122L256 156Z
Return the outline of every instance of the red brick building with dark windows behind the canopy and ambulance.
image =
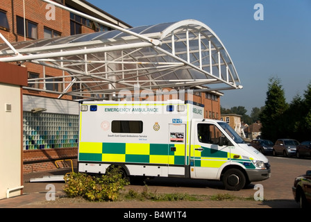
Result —
M56 2L79 12L83 12L86 15L91 15L96 19L114 24L115 26L131 28L130 25L109 15L107 12L96 6L92 6L90 3L87 3L87 1L58 0ZM201 25L200 23L198 24ZM53 8L40 0L2 0L0 3L0 33L6 38L6 40L8 40L8 42L18 42L15 46L22 49L25 54L27 53L28 45L37 46L37 49L40 49L40 46L44 45L46 42L60 41L66 44L66 42L70 42L69 40L85 37L85 35L79 34L96 32L105 33L111 30L112 28L92 21L92 19L76 15L73 12L69 12L62 8ZM195 31L197 31L196 28L194 28L194 32ZM212 69L214 69L214 74L211 74L209 78L211 76L217 76L217 79L215 80L206 80L206 84L210 82L226 82L230 87L239 88L235 85L235 82L239 81L238 76L235 73L235 68L221 42L219 42L217 37L214 36L214 33L210 32L207 28L203 28L203 31L208 34L204 33L205 36L203 37L202 35L199 40L202 39L201 46L204 48L202 49L204 56L203 59L209 62L207 65L201 64L201 70L204 69L203 71L205 71L205 69L210 69L209 71L212 73ZM178 36L180 41L184 41L185 37L182 36L185 36L185 33L178 35L180 35ZM196 33L193 35L196 35ZM172 39L171 37L168 38L169 40ZM192 41L198 42L198 37L192 38ZM176 38L176 40L178 39ZM211 40L216 42L214 46L211 46ZM0 43L2 43L1 40ZM176 48L179 43L180 42L176 42ZM185 46L185 44L182 44L182 46ZM219 49L217 47L219 47ZM198 58L195 58L197 56L196 51L197 49L193 52L191 51L191 54L195 60L198 60ZM121 53L121 55L123 55L124 52L122 51ZM180 52L176 51L176 54L178 53ZM190 55L190 51L187 53ZM210 53L210 55L208 55L208 53ZM226 55L221 57L221 53ZM158 56L158 54L155 54L155 56ZM215 58L212 58L212 56L215 56ZM148 55L146 57L148 57ZM209 60L207 59L208 57L210 58ZM37 61L37 63L40 62ZM79 125L78 103L76 102L76 99L80 98L68 93L62 94L62 92L65 90L66 92L87 91L81 83L73 83L72 75L68 74L64 69L55 69L51 64L49 66L42 66L37 65L37 63L26 61L17 62L17 65L26 67L28 70L28 87L23 87L24 172L55 168L56 166L54 162L56 160L76 160L78 153ZM53 62L51 63L53 64ZM194 63L199 62L194 61ZM76 66L78 67L78 65ZM118 67L121 66L122 65L118 65ZM131 70L134 65L128 66L129 67L126 69ZM114 65L113 67L117 67L117 65ZM187 67L187 69L188 68L189 67ZM219 71L217 71L217 69ZM208 71L205 71L205 74L207 72ZM192 72L190 71L190 76L191 75ZM193 72L193 75L199 77L202 76L195 71ZM142 75L140 78L143 77L144 76ZM150 80L147 77L145 79ZM184 80L182 81L185 82ZM150 80L150 83L151 82L152 81ZM223 94L217 90L205 90L208 88L199 87L194 82L187 84L193 85L193 87L190 88L195 89L192 100L204 105L204 117L220 119L220 96ZM92 96L90 96L90 98L92 98Z

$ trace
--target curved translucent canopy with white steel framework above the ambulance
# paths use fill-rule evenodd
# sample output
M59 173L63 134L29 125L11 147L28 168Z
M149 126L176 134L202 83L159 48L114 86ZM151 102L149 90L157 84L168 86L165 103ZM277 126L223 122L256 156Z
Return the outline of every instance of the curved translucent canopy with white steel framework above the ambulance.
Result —
M191 19L9 46L0 46L0 61L27 61L65 71L65 76L57 77L65 85L63 91L54 92L60 97L103 98L137 86L201 92L242 88L219 37L205 24ZM51 83L51 79L29 79L28 83ZM74 83L81 83L83 90L73 88ZM47 91L44 88L35 90Z

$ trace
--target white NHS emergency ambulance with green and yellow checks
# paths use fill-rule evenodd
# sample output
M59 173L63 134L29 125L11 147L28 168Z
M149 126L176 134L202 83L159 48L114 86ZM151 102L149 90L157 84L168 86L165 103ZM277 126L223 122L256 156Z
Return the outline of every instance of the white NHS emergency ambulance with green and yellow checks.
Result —
M127 178L221 180L228 190L270 177L267 157L203 113L203 105L180 100L85 101L78 171L103 174L117 166Z

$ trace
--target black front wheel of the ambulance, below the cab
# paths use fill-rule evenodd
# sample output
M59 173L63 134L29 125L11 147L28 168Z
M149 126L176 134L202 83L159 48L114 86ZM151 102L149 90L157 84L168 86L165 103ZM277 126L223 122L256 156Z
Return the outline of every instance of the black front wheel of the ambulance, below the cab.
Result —
M225 189L239 191L246 185L244 173L239 169L228 169L223 176Z

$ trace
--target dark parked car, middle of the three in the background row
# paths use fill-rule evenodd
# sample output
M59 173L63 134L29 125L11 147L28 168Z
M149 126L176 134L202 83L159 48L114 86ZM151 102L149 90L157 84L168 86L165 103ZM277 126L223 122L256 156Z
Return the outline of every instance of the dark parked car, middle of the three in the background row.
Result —
M273 155L283 155L284 157L292 157L296 155L296 146L299 142L296 139L278 139L273 147Z

